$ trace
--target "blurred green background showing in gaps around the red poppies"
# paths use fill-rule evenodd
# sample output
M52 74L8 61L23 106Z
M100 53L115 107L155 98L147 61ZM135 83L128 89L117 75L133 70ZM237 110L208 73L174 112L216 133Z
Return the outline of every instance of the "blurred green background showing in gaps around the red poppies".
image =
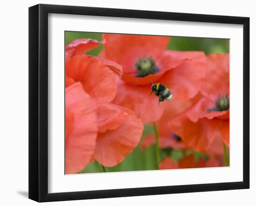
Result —
M65 32L65 45L70 41L89 38L95 40L102 40L101 33L87 33L87 32ZM102 44L96 49L88 52L90 55L97 55L103 48ZM213 39L213 38L198 38L198 37L172 37L168 47L171 50L178 51L204 51L206 55L211 53L229 53L229 40L227 39ZM144 126L142 139L149 133L153 133L153 128L150 125ZM172 157L175 161L181 159L185 154L194 153L195 158L205 156L202 153L194 151L182 151L172 148L161 150L161 159L166 156ZM155 160L155 145L148 147L145 151L141 150L138 145L132 153L130 153L119 165L114 167L106 167L108 172L121 171L139 171L139 170L157 170ZM103 169L99 163L94 161L90 163L81 173L99 173Z

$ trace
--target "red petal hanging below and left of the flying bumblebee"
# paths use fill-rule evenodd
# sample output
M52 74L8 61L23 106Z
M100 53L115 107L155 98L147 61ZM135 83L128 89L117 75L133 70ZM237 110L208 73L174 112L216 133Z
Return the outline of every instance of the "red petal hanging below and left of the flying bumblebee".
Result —
M118 79L116 84L114 104L131 109L143 123L159 120L164 106L163 103L158 104L158 97L153 94L150 96L151 87L132 86Z

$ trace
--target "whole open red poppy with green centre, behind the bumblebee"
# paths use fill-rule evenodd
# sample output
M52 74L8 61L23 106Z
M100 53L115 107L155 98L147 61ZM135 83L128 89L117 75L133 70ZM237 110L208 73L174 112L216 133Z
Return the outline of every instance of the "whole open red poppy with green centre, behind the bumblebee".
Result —
M158 120L163 106L151 92L151 80L169 87L176 100L196 95L204 77L205 55L202 52L165 50L170 37L102 34L106 39L101 57L123 66L117 81L114 103L135 111L142 122Z

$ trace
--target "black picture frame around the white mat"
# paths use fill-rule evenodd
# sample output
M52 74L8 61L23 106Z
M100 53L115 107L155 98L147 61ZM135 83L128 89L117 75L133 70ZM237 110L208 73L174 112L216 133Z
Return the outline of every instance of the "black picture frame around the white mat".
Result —
M80 14L243 25L243 181L48 193L48 14ZM249 188L249 18L39 4L29 7L29 199L99 199Z

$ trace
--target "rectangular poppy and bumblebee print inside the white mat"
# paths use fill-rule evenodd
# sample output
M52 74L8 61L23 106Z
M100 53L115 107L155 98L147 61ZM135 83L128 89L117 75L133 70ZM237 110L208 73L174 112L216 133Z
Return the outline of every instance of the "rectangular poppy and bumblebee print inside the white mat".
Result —
M229 166L229 40L65 32L65 174Z

